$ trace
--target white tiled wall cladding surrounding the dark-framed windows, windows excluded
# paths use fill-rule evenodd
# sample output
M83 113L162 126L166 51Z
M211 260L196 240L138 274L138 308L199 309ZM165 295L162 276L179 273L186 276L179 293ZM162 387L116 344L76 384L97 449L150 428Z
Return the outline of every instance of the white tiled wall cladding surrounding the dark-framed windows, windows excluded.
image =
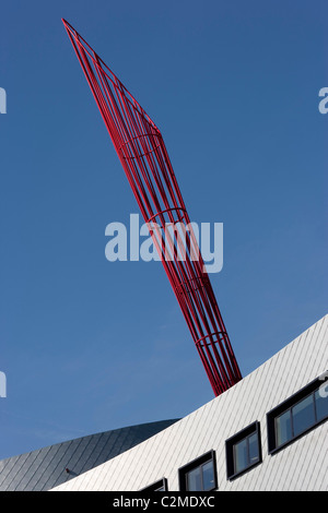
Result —
M177 491L178 468L215 451L218 490L327 490L327 425L268 454L267 413L328 369L328 315L232 389L126 453L54 490L133 491L165 477ZM260 422L262 463L226 478L225 440Z

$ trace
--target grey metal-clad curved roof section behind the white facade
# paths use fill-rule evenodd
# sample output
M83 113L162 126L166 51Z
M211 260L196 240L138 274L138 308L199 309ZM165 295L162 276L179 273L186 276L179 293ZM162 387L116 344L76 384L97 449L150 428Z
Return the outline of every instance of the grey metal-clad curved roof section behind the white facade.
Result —
M0 491L49 490L138 445L177 420L89 434L1 460Z

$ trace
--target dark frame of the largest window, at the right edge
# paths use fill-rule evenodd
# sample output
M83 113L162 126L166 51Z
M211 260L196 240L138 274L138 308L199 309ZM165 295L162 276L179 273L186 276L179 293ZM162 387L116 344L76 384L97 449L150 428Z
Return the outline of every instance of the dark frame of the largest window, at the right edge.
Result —
M304 437L308 432L311 432L313 429L317 428L321 423L324 423L328 419L328 415L326 417L318 419L317 418L317 405L316 405L316 399L315 399L315 392L320 387L320 385L325 382L325 380L320 378L316 378L313 380L311 383L307 385L303 386L301 390L295 392L293 395L288 397L285 401L280 403L278 406L272 408L268 414L267 414L267 430L268 430L268 453L270 455L273 455L278 453L279 451L282 451L284 448L288 445L291 445L294 443L296 440L300 438ZM295 407L298 403L301 403L303 399L306 397L313 395L313 404L314 404L314 411L315 411L315 422L305 428L302 432L297 434L293 434L293 416L292 416L292 408ZM292 429L292 438L286 440L285 442L281 443L278 445L277 442L277 428L276 428L276 420L278 417L280 417L282 414L285 414L286 411L290 410L290 418L291 418L291 429Z

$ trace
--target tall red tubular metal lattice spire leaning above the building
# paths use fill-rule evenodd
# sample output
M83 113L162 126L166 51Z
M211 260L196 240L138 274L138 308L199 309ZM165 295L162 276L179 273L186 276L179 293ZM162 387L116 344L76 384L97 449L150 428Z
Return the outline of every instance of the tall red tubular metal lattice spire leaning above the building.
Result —
M97 53L62 22L218 396L242 374L162 134ZM168 224L179 229L168 232ZM179 230L186 235L184 253Z

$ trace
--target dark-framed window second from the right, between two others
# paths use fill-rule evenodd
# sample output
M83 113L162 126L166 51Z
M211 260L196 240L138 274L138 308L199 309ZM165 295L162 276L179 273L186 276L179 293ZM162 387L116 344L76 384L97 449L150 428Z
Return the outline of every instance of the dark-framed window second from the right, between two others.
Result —
M262 461L260 423L254 422L225 442L226 475L234 479Z

